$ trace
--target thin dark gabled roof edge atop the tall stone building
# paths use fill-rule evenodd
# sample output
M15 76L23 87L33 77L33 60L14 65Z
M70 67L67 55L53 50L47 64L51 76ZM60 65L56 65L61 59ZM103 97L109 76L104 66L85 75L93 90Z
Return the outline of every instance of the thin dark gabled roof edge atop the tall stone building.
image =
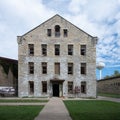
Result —
M92 35L88 34L87 32L83 31L82 29L80 29L79 27L77 27L76 25L74 25L73 23L69 22L68 20L66 20L65 18L63 18L62 16L56 14L53 17L49 18L48 20L46 20L45 22L41 23L40 25L38 25L37 27L33 28L32 30L28 31L27 33L23 34L22 36L25 36L26 34L30 33L31 31L35 30L36 28L40 27L42 24L45 24L47 21L53 19L54 17L60 17L62 19L64 19L65 21L67 21L68 23L72 24L74 27L76 27L77 29L79 29L80 31L84 32L85 34L89 35L90 37L93 37Z

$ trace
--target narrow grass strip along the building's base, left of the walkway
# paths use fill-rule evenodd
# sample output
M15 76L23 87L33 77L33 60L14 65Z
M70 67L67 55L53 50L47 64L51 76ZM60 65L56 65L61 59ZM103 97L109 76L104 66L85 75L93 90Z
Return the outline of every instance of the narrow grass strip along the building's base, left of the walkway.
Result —
M48 102L48 100L37 100L37 99L0 99L0 103L39 103Z

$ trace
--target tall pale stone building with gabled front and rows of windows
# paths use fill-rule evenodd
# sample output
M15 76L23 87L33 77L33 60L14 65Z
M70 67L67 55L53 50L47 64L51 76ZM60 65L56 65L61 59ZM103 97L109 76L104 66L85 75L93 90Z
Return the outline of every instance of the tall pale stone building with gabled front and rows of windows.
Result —
M55 15L17 41L19 97L96 97L97 37Z

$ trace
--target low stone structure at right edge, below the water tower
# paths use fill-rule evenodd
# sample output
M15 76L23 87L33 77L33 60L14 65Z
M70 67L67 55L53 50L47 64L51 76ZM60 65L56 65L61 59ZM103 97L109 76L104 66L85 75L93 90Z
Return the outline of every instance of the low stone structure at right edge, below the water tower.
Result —
M98 93L120 94L120 76L97 81Z

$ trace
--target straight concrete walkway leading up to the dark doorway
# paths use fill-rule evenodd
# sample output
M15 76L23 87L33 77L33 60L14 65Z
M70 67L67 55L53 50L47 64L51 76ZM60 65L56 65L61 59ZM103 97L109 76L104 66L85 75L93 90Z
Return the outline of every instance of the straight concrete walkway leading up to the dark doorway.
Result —
M72 120L61 98L51 98L35 120Z

